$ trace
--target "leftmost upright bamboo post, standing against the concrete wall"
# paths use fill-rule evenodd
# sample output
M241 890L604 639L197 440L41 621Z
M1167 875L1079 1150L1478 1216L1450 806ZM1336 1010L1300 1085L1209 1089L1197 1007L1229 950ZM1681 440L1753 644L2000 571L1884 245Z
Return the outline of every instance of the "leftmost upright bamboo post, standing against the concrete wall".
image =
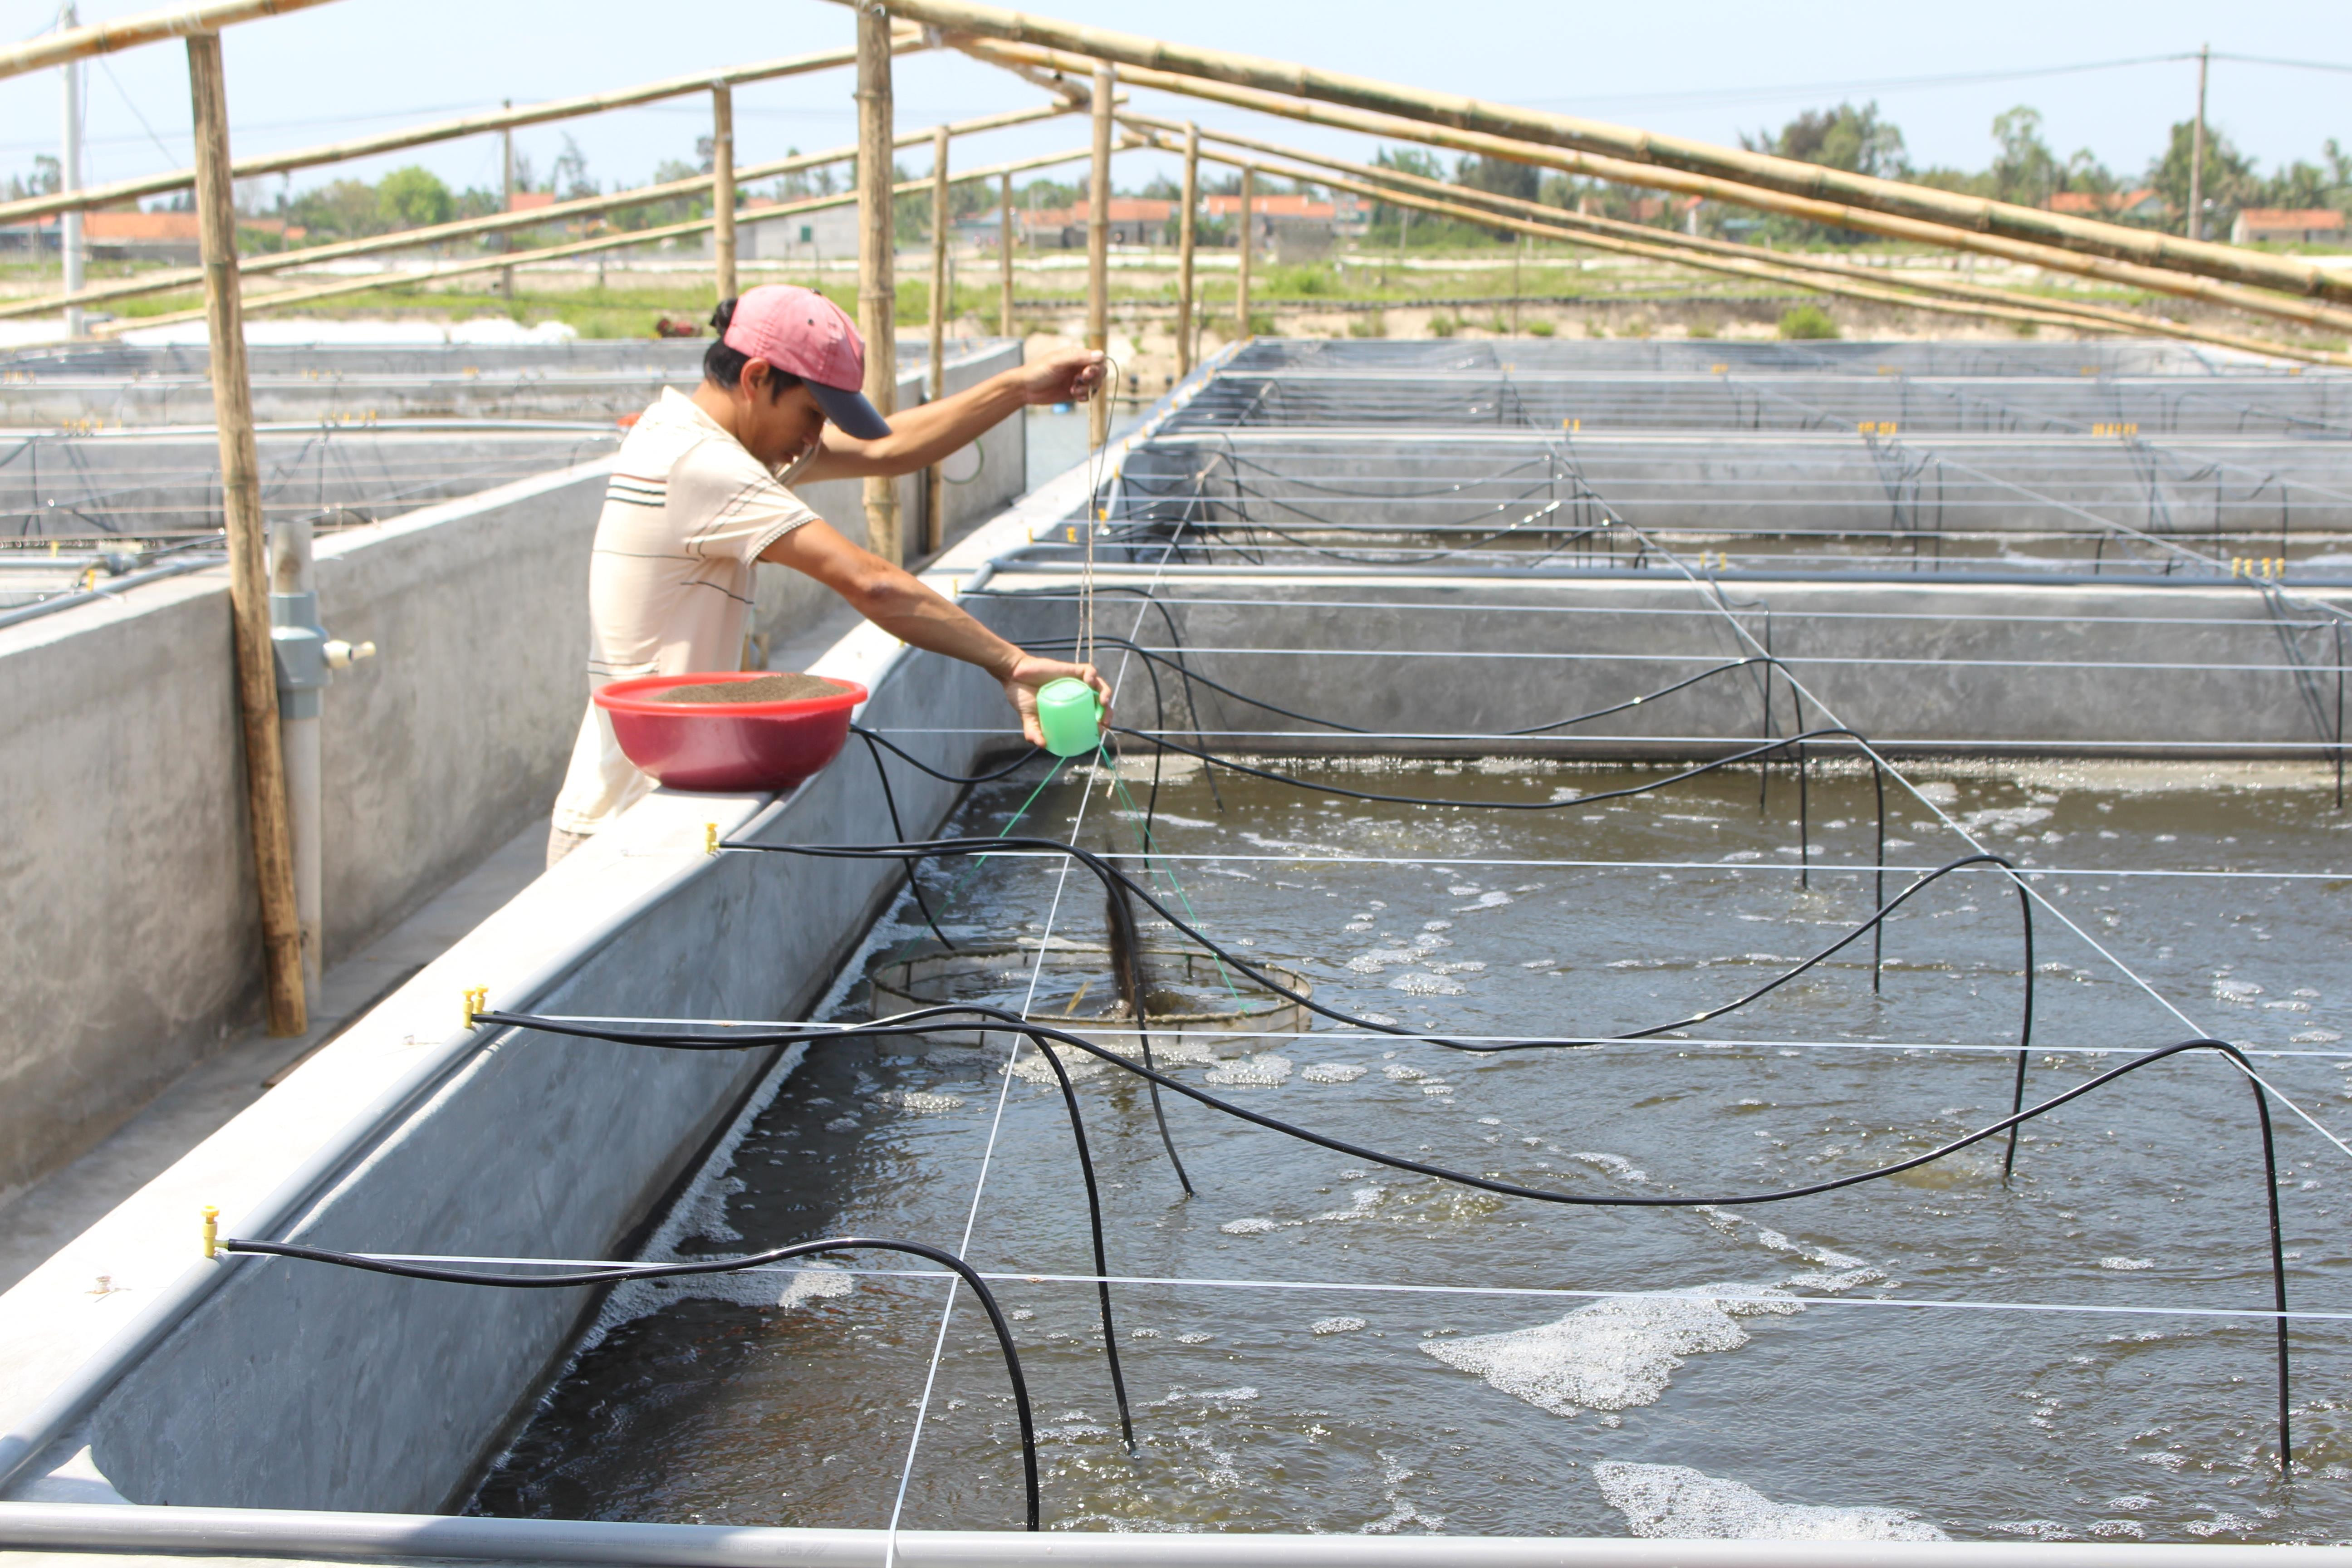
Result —
M278 748L278 658L270 651L268 550L261 536L261 454L254 388L245 374L245 310L238 296L238 207L228 174L228 87L221 35L188 38L195 106L195 223L205 261L205 329L212 336L212 416L221 428L221 527L228 531L228 614L235 628L238 717L245 724L245 809L261 891L261 980L270 1034L308 1027L301 987L301 917L294 910L294 842L287 773Z

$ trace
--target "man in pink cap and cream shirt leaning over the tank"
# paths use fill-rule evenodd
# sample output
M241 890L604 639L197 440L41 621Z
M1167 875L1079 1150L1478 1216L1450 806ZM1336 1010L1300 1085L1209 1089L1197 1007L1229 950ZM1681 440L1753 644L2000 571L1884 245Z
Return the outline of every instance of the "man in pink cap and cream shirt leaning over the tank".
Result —
M962 658L1004 684L1021 733L1040 743L1037 686L1063 675L1110 689L1094 665L1035 658L938 597L896 562L842 538L793 482L927 468L1028 404L1082 402L1103 355L1070 353L990 376L898 414L866 402L866 343L823 294L762 284L713 313L720 336L694 395L663 388L614 458L588 562L588 682L734 670L760 562L804 571L917 649ZM588 705L555 797L548 865L644 797L604 710Z

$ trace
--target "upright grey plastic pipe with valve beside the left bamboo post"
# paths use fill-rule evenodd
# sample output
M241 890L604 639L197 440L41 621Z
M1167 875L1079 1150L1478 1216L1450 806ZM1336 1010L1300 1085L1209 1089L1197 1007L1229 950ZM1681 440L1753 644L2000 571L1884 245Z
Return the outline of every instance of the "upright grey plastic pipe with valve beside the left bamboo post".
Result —
M318 623L318 578L310 562L310 520L270 529L270 649L278 656L278 745L287 766L287 818L294 842L294 914L301 924L301 978L313 994L322 966L325 804L320 783L320 693L334 670L374 658L374 642L327 637Z

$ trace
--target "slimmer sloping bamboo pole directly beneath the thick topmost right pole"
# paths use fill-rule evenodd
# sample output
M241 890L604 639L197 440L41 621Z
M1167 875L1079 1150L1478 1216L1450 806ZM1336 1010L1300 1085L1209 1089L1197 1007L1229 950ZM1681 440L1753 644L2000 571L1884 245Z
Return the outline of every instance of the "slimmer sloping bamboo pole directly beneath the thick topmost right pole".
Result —
M964 47L967 54L985 59L1007 71L1023 71L1037 66L1070 71L1089 63L1084 56L1056 49L1025 49L1007 45L960 45L960 47ZM1917 219L1865 212L1860 207L1846 207L1839 202L1785 195L1780 190L1764 190L1759 186L1743 186L1738 181L1722 181L1703 174L1684 174L1679 169L1625 162L1621 158L1599 158L1592 153L1534 146L1526 141L1512 141L1508 136L1489 136L1484 132L1461 132L1442 125L1425 125L1421 120L1399 120L1395 115L1381 115L1371 110L1312 103L1308 99L1291 99L1277 92L1256 92L1249 87L1202 82L1195 78L1171 75L1164 71L1129 68L1127 82L1134 87L1157 87L1162 92L1178 92L1185 96L1207 99L1211 103L1228 103L1232 108L1251 108L1265 115L1279 115L1284 120L1298 120L1305 125L1350 129L1350 132L1362 132L1367 136L1385 136L1395 141L1421 141L1425 146L1437 146L1454 153L1508 158L1512 162L1536 165L1541 169L1588 174L1595 179L1606 179L1625 186L1642 186L1649 190L1696 195L1710 202L1733 202L1738 207L1752 207L1757 212L1778 212L1783 216L1804 219L1809 223L1849 228L1856 233L1870 233L1886 240L1910 240L1917 244L1936 244L1943 249L1973 252L1980 256L1999 256L2002 261L2039 266L2053 273L2070 273L2077 277L2093 277L2098 282L2112 282L2129 289L2147 289L2152 294L2194 299L2199 303L2220 306L2227 310L2244 310L2246 315L2260 315L2281 322L2298 322L2303 327L2352 331L2352 310L2321 306L2303 299L2286 299L2281 294L2265 294L2260 289L2244 289L2230 282L2213 282L2209 277L2194 277L2190 273L2176 273L2161 266L2140 266L2136 261L2105 261L2100 256L2084 256L2079 252L2058 249L2053 244L2006 240L2002 235L1976 233L1969 228L1924 223Z

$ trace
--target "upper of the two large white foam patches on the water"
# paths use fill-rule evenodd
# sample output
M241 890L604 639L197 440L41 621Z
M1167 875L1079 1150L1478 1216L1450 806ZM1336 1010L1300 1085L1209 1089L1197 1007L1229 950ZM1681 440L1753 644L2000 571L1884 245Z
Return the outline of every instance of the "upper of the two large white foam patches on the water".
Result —
M1421 1349L1538 1410L1625 1410L1656 1403L1689 1356L1745 1345L1738 1319L1797 1312L1804 1305L1788 1291L1712 1284L1597 1300L1534 1328L1428 1340Z

